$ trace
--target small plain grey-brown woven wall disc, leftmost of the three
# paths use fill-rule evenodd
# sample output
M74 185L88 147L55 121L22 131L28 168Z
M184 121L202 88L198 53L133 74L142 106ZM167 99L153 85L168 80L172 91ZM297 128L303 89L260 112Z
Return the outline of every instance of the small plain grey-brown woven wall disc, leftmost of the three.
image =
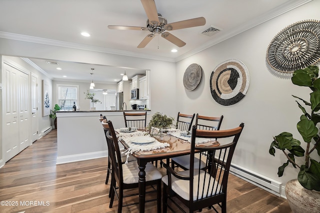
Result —
M183 74L183 86L186 90L194 90L201 80L201 67L198 64L190 64Z

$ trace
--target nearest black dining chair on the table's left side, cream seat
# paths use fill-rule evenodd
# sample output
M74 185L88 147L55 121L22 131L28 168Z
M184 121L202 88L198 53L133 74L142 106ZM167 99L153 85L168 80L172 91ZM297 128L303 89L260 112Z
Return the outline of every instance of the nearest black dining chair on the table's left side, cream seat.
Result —
M111 180L110 186L112 187L112 191L109 208L112 208L114 196L116 195L118 198L117 212L121 213L122 207L138 204L138 202L136 202L123 205L123 198L138 195L137 193L131 194L130 191L127 192L125 190L138 188L138 173L140 170L138 168L137 161L131 161L127 164L122 163L118 140L116 138L111 121L108 121L108 126L109 129L106 131L105 138L107 141L108 150L110 151L108 155L111 158L111 178L113 179ZM156 169L156 167L151 163L147 163L145 166L145 185L151 187L150 191L148 190L146 193L156 193L156 199L147 200L146 202L156 201L158 213L161 211L161 178L162 174ZM156 185L156 189L154 188L154 185Z

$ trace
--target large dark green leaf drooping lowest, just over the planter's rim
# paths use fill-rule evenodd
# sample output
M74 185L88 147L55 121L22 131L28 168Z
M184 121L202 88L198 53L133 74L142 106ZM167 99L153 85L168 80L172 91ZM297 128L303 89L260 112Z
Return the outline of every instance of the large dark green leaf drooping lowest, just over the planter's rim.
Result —
M318 177L308 170L304 165L301 165L298 173L298 181L308 190L320 191L320 184Z

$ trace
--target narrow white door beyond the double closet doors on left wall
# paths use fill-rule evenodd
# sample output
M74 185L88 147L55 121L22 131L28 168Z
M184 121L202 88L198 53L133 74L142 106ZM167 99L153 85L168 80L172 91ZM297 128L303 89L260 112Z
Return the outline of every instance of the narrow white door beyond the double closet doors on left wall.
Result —
M38 99L37 99L37 81L36 75L31 74L31 142L38 140Z

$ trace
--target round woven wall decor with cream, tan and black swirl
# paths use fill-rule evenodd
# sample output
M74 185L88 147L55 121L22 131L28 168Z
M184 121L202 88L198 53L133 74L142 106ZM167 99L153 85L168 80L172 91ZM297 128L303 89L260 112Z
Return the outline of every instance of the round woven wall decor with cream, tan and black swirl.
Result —
M249 73L239 60L230 59L217 65L210 76L213 99L228 106L240 101L249 87Z

